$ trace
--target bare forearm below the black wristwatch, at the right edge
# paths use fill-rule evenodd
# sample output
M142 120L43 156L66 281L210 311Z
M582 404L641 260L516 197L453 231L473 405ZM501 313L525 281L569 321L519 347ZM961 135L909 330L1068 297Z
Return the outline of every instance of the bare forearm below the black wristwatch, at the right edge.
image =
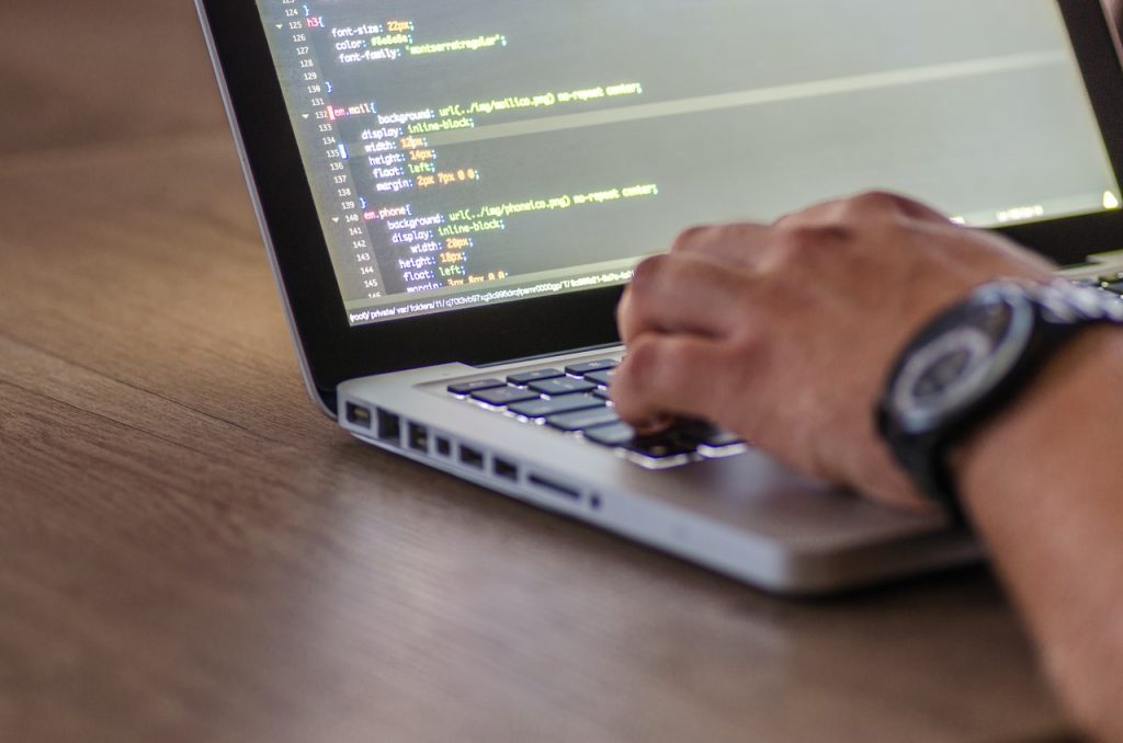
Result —
M1079 722L1123 740L1123 331L1089 331L964 447L965 506Z

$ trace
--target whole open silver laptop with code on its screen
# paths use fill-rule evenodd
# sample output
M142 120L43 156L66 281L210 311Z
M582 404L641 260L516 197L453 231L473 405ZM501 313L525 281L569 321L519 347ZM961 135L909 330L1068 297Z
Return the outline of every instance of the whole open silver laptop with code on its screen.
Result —
M640 259L878 187L1123 277L1102 255L1123 249L1123 73L1098 0L198 7L323 413L769 591L980 548L704 422L638 438L606 389Z

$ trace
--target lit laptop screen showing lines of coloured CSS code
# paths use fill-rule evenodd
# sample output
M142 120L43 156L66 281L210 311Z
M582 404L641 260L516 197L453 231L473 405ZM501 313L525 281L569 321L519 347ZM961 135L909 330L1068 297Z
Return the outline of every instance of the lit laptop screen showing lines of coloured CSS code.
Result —
M257 4L351 325L870 187L976 227L1120 208L1049 0Z

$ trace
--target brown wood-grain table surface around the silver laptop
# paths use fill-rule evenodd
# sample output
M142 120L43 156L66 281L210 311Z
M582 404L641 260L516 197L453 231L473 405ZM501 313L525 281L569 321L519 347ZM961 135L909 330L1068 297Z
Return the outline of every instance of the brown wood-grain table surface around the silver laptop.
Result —
M778 600L344 435L190 3L57 4L0 48L0 740L1063 734L982 568Z

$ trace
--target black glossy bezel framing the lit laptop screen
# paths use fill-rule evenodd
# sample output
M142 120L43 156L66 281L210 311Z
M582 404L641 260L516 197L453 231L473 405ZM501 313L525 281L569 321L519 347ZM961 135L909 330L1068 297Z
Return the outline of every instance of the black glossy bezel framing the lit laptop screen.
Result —
M620 286L350 327L256 3L197 2L305 372L327 407L335 409L336 387L355 377L453 361L482 366L618 341ZM1099 0L1057 2L1123 182L1123 66L1105 64L1117 59L1105 10ZM1123 247L1123 211L997 231L1059 263L1078 263Z

